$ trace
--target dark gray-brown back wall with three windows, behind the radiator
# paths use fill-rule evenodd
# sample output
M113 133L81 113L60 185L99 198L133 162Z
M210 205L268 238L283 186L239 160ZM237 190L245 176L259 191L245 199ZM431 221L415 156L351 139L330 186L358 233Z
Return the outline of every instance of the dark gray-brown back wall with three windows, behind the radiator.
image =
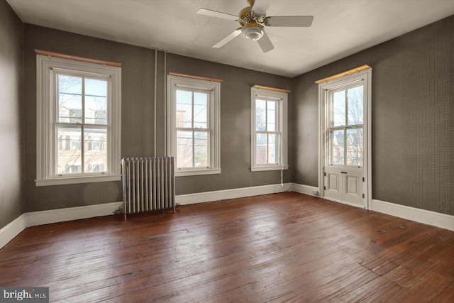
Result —
M25 24L26 211L121 201L120 182L35 187L35 49L122 64L121 155L153 155L155 51ZM164 54L158 52L157 155L164 154ZM250 172L250 87L292 90L292 79L214 62L167 54L167 71L222 79L221 175L177 177L177 194L280 183L280 171ZM292 95L289 95L292 102ZM292 119L292 114L290 113ZM292 131L290 129L290 131ZM292 153L289 153L292 165ZM292 171L284 172L290 182Z

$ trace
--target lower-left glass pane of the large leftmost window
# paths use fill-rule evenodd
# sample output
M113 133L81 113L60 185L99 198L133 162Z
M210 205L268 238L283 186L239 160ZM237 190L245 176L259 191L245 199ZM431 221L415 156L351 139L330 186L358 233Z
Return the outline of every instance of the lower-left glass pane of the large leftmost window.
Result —
M57 138L62 144L56 148L56 173L74 174L82 172L81 128L79 126L57 127Z

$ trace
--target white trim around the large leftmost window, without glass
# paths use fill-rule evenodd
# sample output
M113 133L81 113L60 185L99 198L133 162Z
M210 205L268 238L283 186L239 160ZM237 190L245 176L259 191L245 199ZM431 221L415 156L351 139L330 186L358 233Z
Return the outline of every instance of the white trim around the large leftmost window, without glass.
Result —
M52 70L108 75L111 77L109 89L109 111L107 119L108 165L109 172L99 175L56 176L52 170L55 145L52 144L54 129L52 116L55 105L52 97ZM121 180L121 68L88 62L60 59L57 57L36 56L36 186L75 184L87 182L107 182ZM57 144L57 143L55 143Z

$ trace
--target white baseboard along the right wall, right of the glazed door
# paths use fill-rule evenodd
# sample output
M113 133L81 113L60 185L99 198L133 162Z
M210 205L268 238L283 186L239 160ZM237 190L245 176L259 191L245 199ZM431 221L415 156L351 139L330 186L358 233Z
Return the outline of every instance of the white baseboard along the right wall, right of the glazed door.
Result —
M425 209L416 209L414 207L384 202L376 199L372 199L370 209L383 214L390 214L391 216L398 216L399 218L409 219L411 221L454 231L454 216L450 216L448 214L427 211Z

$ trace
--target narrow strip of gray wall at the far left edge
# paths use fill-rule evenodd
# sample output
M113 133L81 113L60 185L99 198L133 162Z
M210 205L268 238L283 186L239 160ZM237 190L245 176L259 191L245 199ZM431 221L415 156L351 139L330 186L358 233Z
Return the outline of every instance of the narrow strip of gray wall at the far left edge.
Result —
M23 214L23 24L0 1L0 228Z

